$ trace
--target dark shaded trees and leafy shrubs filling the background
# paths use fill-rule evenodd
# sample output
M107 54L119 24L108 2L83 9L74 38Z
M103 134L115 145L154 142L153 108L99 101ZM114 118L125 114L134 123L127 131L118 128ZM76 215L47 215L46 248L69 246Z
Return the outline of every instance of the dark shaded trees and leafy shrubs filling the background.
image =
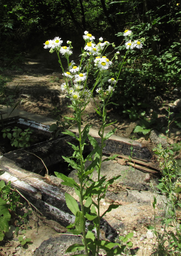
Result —
M181 87L180 28L181 0L0 0L1 71L17 68L27 54L44 54L43 43L55 36L70 38L76 53L85 30L115 42L121 53L117 66L125 49L122 32L131 29L134 38L146 42L140 51L129 52L113 100L136 120L150 102L173 100L172 92Z

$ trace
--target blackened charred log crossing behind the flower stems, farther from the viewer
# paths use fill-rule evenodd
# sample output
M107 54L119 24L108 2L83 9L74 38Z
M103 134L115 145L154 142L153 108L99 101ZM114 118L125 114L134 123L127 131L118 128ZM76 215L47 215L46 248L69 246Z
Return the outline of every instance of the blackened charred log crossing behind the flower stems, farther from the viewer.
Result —
M77 133L77 129L72 131ZM91 129L90 135L92 135L97 140L98 144L101 144L101 140L97 131ZM50 169L51 166L64 163L62 155L67 157L72 156L73 149L68 144L68 142L74 144L75 146L79 144L75 138L71 136L64 136L54 140L35 144L26 148L26 150L18 149L10 151L4 154L4 156L10 160L13 160L16 165L22 169L40 173L44 167L44 164L48 169ZM85 154L89 153L93 149L88 140L86 143L87 146L84 148ZM105 144L106 146L103 148L104 154L119 154L125 156L131 155L131 142L127 138L113 135L111 138L105 141ZM132 142L132 147L132 153L134 156L133 159L141 159L150 162L152 154L148 148L137 141Z

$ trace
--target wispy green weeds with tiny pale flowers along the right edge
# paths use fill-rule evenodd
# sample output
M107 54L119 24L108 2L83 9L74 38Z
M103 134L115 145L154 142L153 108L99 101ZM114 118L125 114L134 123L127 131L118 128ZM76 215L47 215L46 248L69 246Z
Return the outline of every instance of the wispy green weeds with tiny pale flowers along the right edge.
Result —
M164 149L161 143L153 151L158 155L162 178L159 180L157 188L161 193L165 194L164 201L165 212L164 218L161 219L163 225L163 233L154 226L149 226L153 229L156 235L158 246L154 248L154 255L180 255L181 254L181 224L178 221L178 216L181 208L179 194L181 192L181 175L177 169L177 162L174 159L174 152L169 146L169 125L170 125L170 109L168 111L168 129L166 136L161 136L167 140L167 147ZM180 148L179 148L180 150ZM154 197L153 209L156 221L155 207L159 209L157 199ZM159 209L160 210L160 209ZM178 214L178 216L177 216Z

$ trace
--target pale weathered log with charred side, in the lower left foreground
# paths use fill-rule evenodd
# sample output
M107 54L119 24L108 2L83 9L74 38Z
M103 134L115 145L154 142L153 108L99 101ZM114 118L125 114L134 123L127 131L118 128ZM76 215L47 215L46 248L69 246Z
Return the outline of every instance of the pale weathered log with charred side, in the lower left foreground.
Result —
M66 205L65 191L49 179L19 168L4 156L0 156L0 168L0 180L6 183L11 181L11 186L20 191L44 216L64 227L75 221L75 216ZM86 222L87 228L89 224ZM101 234L110 241L117 237L116 230L105 219L101 220Z

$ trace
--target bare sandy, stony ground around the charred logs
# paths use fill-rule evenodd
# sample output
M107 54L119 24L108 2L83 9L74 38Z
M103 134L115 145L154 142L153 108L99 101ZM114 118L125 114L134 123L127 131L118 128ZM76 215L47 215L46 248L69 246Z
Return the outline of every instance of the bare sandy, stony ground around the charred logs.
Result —
M54 72L53 69L42 65L41 61L33 59L27 59L22 69L23 71L11 71L9 75L13 75L14 78L7 84L10 89L14 90L16 102L21 100L17 107L18 109L55 120L58 117L73 115L71 108L67 108L68 98L60 90L62 73ZM167 114L165 109L168 109L169 104L170 102L166 102L156 110L163 123L167 120L165 118ZM98 130L100 121L94 107L94 102L90 101L85 110L87 115L83 117L83 125L89 122L92 124L93 129ZM150 113L151 111L150 108ZM146 145L150 150L159 142L163 142L160 141L157 131L154 130L149 138L134 134L133 130L138 125L138 121L132 122L130 119L122 119L121 115L113 110L108 112L108 116L110 117L110 122L115 120L117 122L109 126L106 132L117 128L115 132L117 136L129 138L135 135L137 141ZM163 125L165 125L166 131L167 123L165 122ZM170 131L169 143L172 144L174 142L180 142L180 131L176 127ZM121 174L122 178L109 187L106 197L101 202L101 212L104 212L111 203L117 203L119 207L107 213L105 219L117 230L119 235L126 235L129 232L134 233L133 238L130 239L133 247L129 251L129 255L149 256L153 252L153 246L157 245L153 232L148 231L146 228L148 225L154 224L153 196L157 197L159 205L159 209L156 209L156 214L163 216L164 213L163 201L165 201L165 196L158 195L154 189L158 184L159 178L137 169L131 168L129 170L129 166L121 158L109 162L105 161L102 166L102 175L111 178L114 174ZM71 172L70 176L76 179L74 172ZM63 187L60 184L60 179L53 175L50 176L50 179L58 186ZM68 187L65 189L77 199L72 189ZM38 213L31 214L29 218L29 223L24 225L17 236L14 234L13 238L9 238L6 243L3 243L0 251L1 255L69 255L68 253L65 254L65 248L72 243L73 239L76 239L67 238L67 235L59 235L66 232L65 228L52 220L47 220ZM157 220L156 226L159 232L163 233L163 226L159 220ZM18 241L18 236L21 233L32 239L32 242L24 247L20 246ZM37 249L38 247L39 249Z

